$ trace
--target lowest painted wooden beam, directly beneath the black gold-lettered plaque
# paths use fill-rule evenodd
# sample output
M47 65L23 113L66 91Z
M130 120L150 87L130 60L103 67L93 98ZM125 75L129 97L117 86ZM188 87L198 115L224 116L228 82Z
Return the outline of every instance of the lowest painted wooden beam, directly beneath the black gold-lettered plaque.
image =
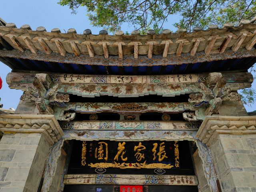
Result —
M195 175L126 175L126 174L101 174L101 184L113 184L112 180L115 181L115 185L144 185L151 178L154 178L156 185L188 185L197 186L198 180ZM66 174L64 176L64 184L97 184L98 174ZM111 178L111 179L110 179Z

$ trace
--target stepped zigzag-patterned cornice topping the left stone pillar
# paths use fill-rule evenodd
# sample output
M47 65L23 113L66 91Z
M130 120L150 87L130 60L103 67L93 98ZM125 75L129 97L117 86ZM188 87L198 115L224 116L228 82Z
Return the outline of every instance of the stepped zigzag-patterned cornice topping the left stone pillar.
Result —
M50 144L63 136L63 131L54 115L2 114L0 130L4 132L41 132Z

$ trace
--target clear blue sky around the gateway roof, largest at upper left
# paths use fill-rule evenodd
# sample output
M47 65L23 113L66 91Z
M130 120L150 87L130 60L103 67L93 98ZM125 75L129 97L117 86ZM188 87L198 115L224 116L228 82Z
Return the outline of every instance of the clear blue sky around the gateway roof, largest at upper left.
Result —
M91 29L92 34L98 34L102 28L96 28L90 25L86 16L86 9L79 8L76 15L71 14L68 6L60 6L58 0L2 0L0 17L8 23L15 23L18 28L24 24L29 24L32 30L36 30L38 26L44 26L47 31L52 28L60 28L62 32L69 28L75 28L77 33L82 33L85 29ZM169 18L164 24L164 28L176 31L172 24L177 22L178 16ZM122 31L131 32L133 27L124 24ZM0 76L3 80L3 87L0 90L0 103L4 104L4 108L16 108L22 95L20 90L12 90L6 84L6 75L11 69L0 62ZM254 84L253 87L256 87ZM245 106L246 110L256 110L256 104Z

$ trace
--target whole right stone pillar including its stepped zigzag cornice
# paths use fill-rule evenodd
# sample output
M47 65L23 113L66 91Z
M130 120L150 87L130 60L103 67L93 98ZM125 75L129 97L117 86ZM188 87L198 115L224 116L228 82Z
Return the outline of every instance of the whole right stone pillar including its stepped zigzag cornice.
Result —
M256 117L210 116L198 130L209 148L222 192L256 191Z

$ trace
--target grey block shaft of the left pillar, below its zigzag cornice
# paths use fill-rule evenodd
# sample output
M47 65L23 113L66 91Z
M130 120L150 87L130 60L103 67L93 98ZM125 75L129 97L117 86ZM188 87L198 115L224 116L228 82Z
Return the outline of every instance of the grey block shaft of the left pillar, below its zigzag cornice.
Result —
M4 134L0 141L0 192L36 192L49 148L41 133Z

